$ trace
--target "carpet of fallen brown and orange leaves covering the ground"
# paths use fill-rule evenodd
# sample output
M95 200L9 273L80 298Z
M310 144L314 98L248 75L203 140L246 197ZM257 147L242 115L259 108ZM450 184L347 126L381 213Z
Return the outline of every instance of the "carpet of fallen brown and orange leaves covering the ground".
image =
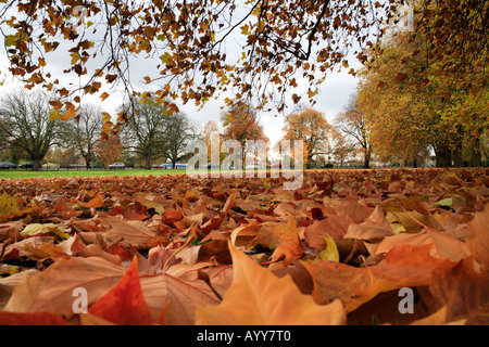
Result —
M0 324L489 324L488 171L0 180Z

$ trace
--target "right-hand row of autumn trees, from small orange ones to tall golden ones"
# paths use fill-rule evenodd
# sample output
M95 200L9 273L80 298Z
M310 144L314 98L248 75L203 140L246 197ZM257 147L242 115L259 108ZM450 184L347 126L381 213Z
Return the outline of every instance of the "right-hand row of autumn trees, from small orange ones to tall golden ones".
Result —
M360 150L414 167L487 165L487 1L410 1L408 15L367 43L356 92L334 125L313 110L287 117L286 139L304 139L305 163ZM405 25L409 24L409 25ZM450 25L448 25L450 24ZM457 30L453 30L457 27Z

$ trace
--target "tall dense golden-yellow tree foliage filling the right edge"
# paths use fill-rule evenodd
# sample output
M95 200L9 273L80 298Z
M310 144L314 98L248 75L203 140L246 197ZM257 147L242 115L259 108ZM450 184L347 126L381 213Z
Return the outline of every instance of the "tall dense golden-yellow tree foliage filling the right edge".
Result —
M354 104L379 158L416 165L434 153L439 167L480 166L487 158L487 9L485 1L414 1L415 30L397 27L366 51ZM441 15L465 18L466 27L434 33Z

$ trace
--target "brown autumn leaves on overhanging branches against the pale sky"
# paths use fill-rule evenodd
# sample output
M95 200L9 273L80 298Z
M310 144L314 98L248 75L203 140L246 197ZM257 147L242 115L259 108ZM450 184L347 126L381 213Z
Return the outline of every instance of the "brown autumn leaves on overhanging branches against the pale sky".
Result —
M154 76L139 78L159 86L154 94L166 108L176 107L166 100L200 105L233 88L237 100L259 97L263 105L277 94L283 111L290 88L303 80L308 91L296 93L294 102L313 100L317 81L339 64L348 67L347 50L372 39L368 31L394 12L391 3L380 15L369 1L0 2L0 24L10 73L29 89L42 86L60 97L80 91L104 100L105 87L122 86L130 94L137 88L128 57L136 56L153 65ZM63 86L52 76L52 54L64 55L70 64L63 73L83 82Z

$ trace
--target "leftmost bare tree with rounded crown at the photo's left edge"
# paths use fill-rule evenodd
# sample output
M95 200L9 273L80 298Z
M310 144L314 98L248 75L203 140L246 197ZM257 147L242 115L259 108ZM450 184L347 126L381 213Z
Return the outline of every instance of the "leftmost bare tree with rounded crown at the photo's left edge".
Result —
M17 90L0 101L0 132L12 147L22 149L38 171L42 158L60 134L60 120L50 119L49 97L41 92Z

